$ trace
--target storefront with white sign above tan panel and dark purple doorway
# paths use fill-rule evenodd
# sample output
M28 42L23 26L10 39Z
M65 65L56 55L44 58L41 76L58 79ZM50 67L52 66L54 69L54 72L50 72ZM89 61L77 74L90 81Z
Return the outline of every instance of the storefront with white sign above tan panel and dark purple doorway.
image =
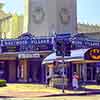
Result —
M44 69L41 63L43 58L47 56L46 54L48 55L48 53L19 54L17 81L43 83L45 76L43 76Z

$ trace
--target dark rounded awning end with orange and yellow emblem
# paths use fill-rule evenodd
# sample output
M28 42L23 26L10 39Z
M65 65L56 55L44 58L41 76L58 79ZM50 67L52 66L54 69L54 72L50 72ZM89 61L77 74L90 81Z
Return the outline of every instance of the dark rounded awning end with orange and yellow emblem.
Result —
M100 48L89 49L85 53L86 60L100 60Z

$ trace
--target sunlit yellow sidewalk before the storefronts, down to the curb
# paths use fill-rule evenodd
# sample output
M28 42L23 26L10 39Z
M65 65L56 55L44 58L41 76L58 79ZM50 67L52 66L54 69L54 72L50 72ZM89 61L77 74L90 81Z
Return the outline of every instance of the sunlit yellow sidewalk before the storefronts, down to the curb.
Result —
M36 84L8 84L7 87L0 88L0 98L33 98L51 96L83 96L100 94L100 86L86 85L79 90L66 89L62 93L61 89L45 87Z

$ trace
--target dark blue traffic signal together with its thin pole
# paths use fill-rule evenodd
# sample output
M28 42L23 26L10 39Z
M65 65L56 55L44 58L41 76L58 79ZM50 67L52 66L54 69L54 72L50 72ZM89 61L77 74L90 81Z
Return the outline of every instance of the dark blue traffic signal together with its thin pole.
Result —
M56 44L56 56L61 56L61 60L62 60L62 92L64 93L64 88L65 88L65 61L64 61L64 57L65 56L70 56L70 50L71 50L71 42L70 42L70 34L57 34L56 35L56 39L55 39L55 44Z

